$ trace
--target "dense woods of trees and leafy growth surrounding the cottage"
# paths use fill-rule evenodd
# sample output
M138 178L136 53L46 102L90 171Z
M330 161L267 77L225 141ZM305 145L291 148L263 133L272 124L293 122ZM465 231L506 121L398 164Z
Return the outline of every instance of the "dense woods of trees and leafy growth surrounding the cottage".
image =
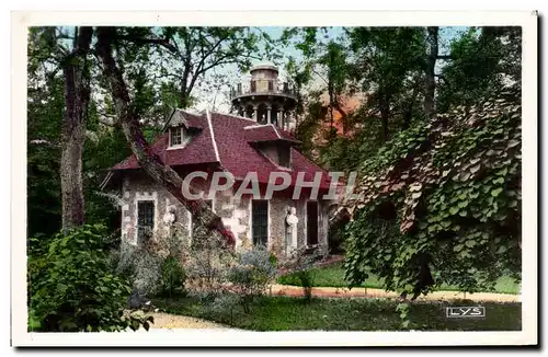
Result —
M502 274L518 278L521 48L520 27L292 27L278 37L251 27L31 28L31 325L147 324L119 322L135 284L111 266L121 212L115 194L100 189L132 153L208 239L233 244L205 201L183 197L182 178L149 146L174 107L212 108L204 93L227 96L230 79L260 59L283 65L299 91L302 151L327 170L357 172L356 196L332 217L352 285L375 274L415 298L439 284L477 291ZM95 302L85 293L77 306L64 293L46 299L59 276L62 291L100 287ZM61 304L91 312L52 318Z

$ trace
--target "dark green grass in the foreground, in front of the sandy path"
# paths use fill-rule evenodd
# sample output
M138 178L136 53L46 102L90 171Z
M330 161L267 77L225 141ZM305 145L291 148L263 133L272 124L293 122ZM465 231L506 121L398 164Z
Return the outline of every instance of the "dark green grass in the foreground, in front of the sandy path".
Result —
M399 331L400 320L395 300L389 299L322 299L306 303L300 298L261 297L244 313L239 307L229 311L208 311L192 298L155 299L161 310L202 318L237 329L252 331ZM413 330L421 331L520 331L521 303L488 302L486 318L448 319L449 306L476 306L469 301L414 302L410 316Z

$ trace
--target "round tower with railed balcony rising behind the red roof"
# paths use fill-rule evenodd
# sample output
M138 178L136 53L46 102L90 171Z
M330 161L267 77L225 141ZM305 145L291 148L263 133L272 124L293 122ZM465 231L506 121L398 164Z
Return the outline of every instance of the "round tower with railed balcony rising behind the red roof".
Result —
M274 64L259 64L250 70L251 80L238 83L230 92L232 108L238 115L252 118L259 124L274 124L290 130L295 124L297 92L288 82L278 80Z

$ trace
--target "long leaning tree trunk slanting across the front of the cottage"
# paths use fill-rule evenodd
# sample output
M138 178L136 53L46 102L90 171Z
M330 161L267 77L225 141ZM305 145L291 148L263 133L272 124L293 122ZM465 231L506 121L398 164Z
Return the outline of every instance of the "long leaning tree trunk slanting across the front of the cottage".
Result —
M139 118L133 110L126 83L122 72L112 56L112 42L116 35L116 27L98 27L96 53L103 65L103 76L111 85L114 107L121 122L124 135L142 170L158 184L168 189L207 229L219 232L227 239L229 245L236 244L232 232L225 229L220 217L215 215L202 199L190 200L182 193L183 180L170 166L164 165L160 158L153 154L139 126ZM198 191L192 185L189 191L196 194Z

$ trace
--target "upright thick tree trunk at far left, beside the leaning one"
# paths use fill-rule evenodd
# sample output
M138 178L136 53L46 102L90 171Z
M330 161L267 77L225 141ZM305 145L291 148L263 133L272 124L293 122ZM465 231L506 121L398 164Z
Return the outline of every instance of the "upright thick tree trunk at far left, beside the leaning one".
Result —
M65 76L65 116L61 128L61 199L62 231L83 224L82 151L84 117L90 101L87 56L93 28L82 26L75 32L75 47L62 62Z

